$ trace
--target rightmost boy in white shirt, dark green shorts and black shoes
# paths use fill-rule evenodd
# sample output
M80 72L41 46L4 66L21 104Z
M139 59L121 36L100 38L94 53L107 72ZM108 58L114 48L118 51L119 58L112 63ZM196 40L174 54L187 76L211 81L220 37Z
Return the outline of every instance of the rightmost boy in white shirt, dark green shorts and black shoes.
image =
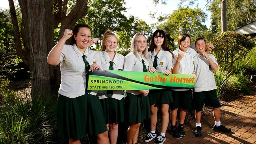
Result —
M213 75L213 71L218 70L218 63L215 60L214 55L207 54L206 52L206 40L199 37L195 41L195 47L197 48L197 55L194 57L194 67L197 74L192 105L195 109L195 118L197 121L195 129L195 137L202 136L201 111L204 106L213 107L213 116L215 124L213 126L214 131L221 131L228 133L230 128L221 125L220 121L220 103L216 95L216 83Z

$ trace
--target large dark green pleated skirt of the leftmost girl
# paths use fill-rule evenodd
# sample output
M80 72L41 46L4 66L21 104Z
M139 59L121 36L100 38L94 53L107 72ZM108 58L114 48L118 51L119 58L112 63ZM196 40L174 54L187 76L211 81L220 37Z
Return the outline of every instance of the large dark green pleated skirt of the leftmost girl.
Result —
M81 139L107 131L106 120L98 96L85 94L68 98L59 94L57 122L60 138Z

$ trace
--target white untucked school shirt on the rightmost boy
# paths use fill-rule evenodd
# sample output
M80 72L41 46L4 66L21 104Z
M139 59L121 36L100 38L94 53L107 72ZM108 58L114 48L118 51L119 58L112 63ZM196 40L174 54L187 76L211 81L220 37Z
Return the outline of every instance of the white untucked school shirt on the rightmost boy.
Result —
M214 55L208 54L211 60L218 65ZM211 69L208 59L203 55L197 54L194 58L195 72L197 73L196 83L194 86L195 92L209 91L217 89L214 73Z

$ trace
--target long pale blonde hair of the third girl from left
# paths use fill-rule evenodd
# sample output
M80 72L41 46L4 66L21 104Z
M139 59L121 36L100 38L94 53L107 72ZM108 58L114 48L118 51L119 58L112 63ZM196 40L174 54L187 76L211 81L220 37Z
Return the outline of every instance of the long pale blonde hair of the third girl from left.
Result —
M143 35L145 37L145 35L143 33L136 33L133 37L132 37L132 42L131 42L131 50L130 52L132 52L137 58L139 58L139 53L138 53L138 48L137 48L137 37L139 37L140 35ZM147 43L147 38L146 39L146 48L145 50L143 50L142 54L144 55L144 57L149 60L148 58L148 43Z

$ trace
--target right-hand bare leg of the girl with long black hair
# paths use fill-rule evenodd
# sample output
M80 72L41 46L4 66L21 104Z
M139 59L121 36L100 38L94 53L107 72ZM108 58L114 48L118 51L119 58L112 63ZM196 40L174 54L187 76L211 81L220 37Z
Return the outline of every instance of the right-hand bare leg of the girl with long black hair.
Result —
M163 103L161 104L161 113L162 113L162 126L161 133L166 133L168 124L169 124L169 104Z

